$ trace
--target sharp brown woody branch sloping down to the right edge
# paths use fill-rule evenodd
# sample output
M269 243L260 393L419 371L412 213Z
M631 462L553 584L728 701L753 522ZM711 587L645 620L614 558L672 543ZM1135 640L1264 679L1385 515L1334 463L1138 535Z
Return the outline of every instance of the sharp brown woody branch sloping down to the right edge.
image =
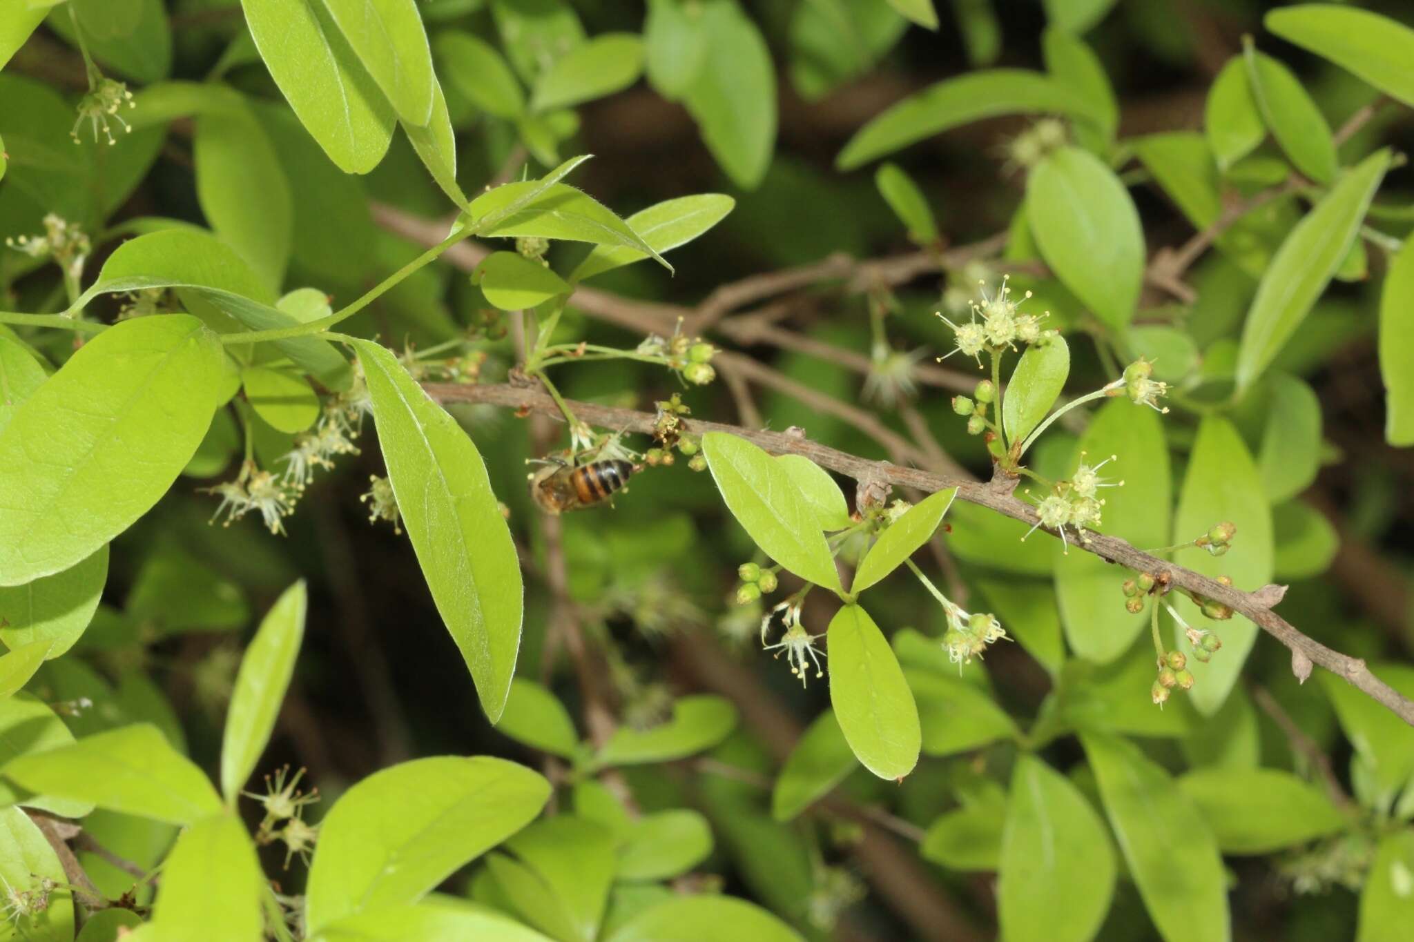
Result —
M433 398L444 403L485 403L559 415L554 401L544 393L533 388L448 384L427 384L424 388ZM650 412L611 408L591 403L571 403L570 407L577 417L592 425L641 434L650 434L653 428L655 417ZM1035 511L1011 494L1015 486L1014 480L980 483L916 467L904 467L889 462L868 460L795 435L745 429L721 422L693 419L687 422L687 429L697 435L713 431L728 432L745 438L776 455L805 455L816 465L847 475L855 480L878 477L898 487L915 487L926 493L933 493L945 487L957 487L957 496L962 500L980 504L1025 524L1036 523ZM1049 530L1046 532L1058 535ZM1356 689L1393 710L1406 723L1414 726L1414 702L1377 678L1362 658L1352 658L1321 644L1315 638L1302 634L1291 623L1273 612L1271 606L1280 602L1280 592L1263 590L1260 586L1256 590L1244 592L1234 586L1226 586L1192 569L1141 552L1117 537L1094 534L1077 545L1086 552L1093 552L1102 559L1135 572L1148 572L1155 576L1167 573L1174 586L1188 589L1232 607L1292 651L1299 651L1312 662L1343 678Z

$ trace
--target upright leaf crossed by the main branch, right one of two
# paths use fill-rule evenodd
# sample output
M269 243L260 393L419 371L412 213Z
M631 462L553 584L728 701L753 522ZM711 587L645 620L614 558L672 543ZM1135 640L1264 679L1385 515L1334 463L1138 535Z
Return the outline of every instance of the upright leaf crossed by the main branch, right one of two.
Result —
M1223 521L1237 525L1232 552L1212 556L1202 549L1189 549L1184 554L1184 564L1215 579L1226 575L1247 592L1267 585L1273 558L1270 501L1237 429L1227 419L1213 415L1198 427L1178 499L1172 542L1193 539ZM1193 647L1182 628L1175 626L1174 630L1175 647L1188 655L1188 669L1196 678L1188 696L1199 713L1212 716L1237 682L1241 665L1257 641L1257 626L1241 616L1212 624L1186 597L1176 599L1174 606L1189 624L1216 628L1223 640L1222 652L1209 664L1202 664L1193 657Z

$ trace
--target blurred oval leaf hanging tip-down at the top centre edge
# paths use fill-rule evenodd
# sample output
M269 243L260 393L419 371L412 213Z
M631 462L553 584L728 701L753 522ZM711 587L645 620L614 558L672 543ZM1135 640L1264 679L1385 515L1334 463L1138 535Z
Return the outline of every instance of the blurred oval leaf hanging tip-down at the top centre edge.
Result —
M703 143L742 189L761 185L776 144L776 71L761 30L735 4L703 8L703 65L683 90Z

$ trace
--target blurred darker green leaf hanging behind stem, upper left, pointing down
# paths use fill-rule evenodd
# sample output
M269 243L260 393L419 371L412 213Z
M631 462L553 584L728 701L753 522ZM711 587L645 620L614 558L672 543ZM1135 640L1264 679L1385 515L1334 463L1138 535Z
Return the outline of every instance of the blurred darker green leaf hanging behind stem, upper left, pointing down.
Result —
M274 144L240 96L197 116L197 202L218 236L271 290L284 281L294 243L294 205Z

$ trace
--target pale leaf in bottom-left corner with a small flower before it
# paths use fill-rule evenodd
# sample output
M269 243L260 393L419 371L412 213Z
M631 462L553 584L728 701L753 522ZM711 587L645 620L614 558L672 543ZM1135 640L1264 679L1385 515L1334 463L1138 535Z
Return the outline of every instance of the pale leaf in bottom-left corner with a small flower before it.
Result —
M74 938L69 877L44 832L18 808L0 809L0 880L10 900L28 893L47 902L27 915L11 908L0 924L0 935L24 942L69 942ZM48 890L41 886L45 881Z

